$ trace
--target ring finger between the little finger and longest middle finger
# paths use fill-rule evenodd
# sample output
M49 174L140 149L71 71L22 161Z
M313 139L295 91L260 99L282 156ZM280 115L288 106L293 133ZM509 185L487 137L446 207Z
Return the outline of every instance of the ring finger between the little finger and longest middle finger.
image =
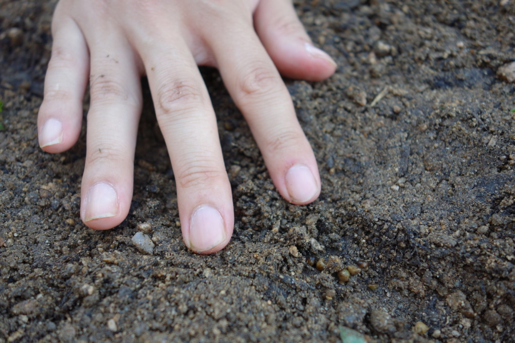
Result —
M91 104L81 218L103 230L121 223L129 212L142 96L138 63L123 35L103 34L88 41Z

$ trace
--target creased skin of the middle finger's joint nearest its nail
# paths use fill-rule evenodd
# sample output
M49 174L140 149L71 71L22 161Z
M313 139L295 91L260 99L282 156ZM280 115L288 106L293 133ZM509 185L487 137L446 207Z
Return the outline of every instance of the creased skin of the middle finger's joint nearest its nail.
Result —
M198 165L197 163L187 164L177 173L177 180L182 188L210 187L223 177L227 177L225 171L220 171L213 166Z

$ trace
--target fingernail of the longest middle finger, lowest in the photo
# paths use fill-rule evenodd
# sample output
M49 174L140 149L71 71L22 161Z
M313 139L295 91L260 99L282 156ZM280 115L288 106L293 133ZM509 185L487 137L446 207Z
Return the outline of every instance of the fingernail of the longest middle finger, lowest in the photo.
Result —
M193 212L190 223L190 249L207 251L225 241L224 219L209 205L201 205Z

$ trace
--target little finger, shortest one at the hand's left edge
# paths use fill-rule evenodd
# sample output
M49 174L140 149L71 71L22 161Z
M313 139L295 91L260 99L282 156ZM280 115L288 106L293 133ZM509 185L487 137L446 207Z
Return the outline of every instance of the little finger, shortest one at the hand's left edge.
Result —
M70 149L82 124L82 100L88 82L89 55L81 30L58 6L54 16L52 58L38 115L40 147L51 153Z

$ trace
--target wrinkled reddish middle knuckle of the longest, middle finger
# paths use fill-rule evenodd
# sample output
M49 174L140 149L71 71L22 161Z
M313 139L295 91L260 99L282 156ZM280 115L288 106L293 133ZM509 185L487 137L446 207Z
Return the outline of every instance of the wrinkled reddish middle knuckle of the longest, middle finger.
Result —
M202 94L190 81L164 82L157 92L161 114L181 112L202 103Z

